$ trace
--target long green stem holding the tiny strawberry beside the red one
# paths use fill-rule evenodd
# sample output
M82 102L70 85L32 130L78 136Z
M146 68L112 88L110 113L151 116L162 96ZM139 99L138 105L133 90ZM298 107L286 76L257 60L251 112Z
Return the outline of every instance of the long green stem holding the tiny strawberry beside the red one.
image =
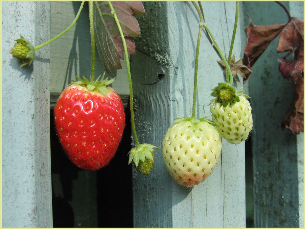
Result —
M125 38L124 38L123 30L120 26L119 19L117 18L117 14L114 11L111 2L108 2L108 4L109 4L109 7L111 9L111 13L114 17L114 20L117 23L117 27L120 31L120 36L121 36L122 42L123 42L125 60L126 60L126 67L127 67L127 75L128 75L128 83L129 83L131 128L132 128L132 133L134 135L135 144L138 147L140 145L140 143L139 143L137 133L136 133L136 130L135 130L135 114L134 114L134 109L133 109L133 91L132 91L132 81L131 81L131 72L130 72L130 63L129 63L129 58L128 58L127 45L126 45L126 41L125 41Z

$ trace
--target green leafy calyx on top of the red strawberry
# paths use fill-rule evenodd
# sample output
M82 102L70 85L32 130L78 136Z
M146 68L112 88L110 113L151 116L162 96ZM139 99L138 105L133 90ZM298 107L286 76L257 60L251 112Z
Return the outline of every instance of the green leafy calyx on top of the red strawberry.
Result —
M89 91L96 91L96 92L102 93L103 95L107 95L106 86L113 83L113 81L115 80L115 77L110 80L108 80L108 77L106 79L104 79L105 72L100 80L101 76L102 75L100 75L93 84L86 77L83 77L83 79L81 79L77 76L76 76L76 78L78 81L72 80L72 82L73 82L73 84L79 84L82 87L87 88Z

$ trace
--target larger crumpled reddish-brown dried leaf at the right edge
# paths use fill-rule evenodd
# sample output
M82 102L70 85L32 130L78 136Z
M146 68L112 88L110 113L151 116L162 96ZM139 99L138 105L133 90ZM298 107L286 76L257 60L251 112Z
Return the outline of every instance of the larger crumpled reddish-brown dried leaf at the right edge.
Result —
M304 131L304 21L292 17L280 33L277 52L288 52L278 59L279 71L284 79L292 79L293 99L282 121L282 130L289 128L294 134ZM293 55L293 60L286 60Z

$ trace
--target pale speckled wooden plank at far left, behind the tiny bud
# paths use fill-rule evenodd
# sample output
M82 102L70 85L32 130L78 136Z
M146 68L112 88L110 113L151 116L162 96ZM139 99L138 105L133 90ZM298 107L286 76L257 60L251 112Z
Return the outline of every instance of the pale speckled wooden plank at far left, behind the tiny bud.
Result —
M52 227L49 47L20 68L20 35L49 39L50 2L2 3L2 227Z

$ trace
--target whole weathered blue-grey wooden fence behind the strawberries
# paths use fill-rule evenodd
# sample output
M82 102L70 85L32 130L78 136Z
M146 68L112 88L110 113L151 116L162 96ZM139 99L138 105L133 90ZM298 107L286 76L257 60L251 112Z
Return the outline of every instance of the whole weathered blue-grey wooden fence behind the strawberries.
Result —
M303 18L303 2L282 3L292 16ZM191 115L199 21L191 2L143 4L146 13L137 18L142 36L135 39L137 51L131 55L136 127L140 142L161 148L172 121ZM228 55L235 2L202 4L207 25ZM292 84L284 81L277 70L277 59L282 55L276 54L276 41L253 66L253 75L243 85L253 107L250 140L246 145L223 141L219 165L202 184L192 189L176 184L166 171L161 149L155 151L156 163L147 177L125 166L122 171L126 178L107 180L109 183L102 185L107 179L103 173L116 173L113 167L99 172L69 167L69 171L62 170L70 172L69 176L63 177L56 169L69 164L56 167L54 159L51 171L51 156L63 153L54 148L54 103L70 79L90 74L88 8L84 7L76 25L65 35L36 51L33 65L20 68L9 50L19 34L34 45L55 36L69 26L79 5L2 3L2 227L52 227L54 198L65 199L68 194L72 227L246 227L246 213L250 219L252 215L255 227L303 227L303 133L296 136L288 129L280 129L292 98ZM242 58L246 42L243 29L249 24L247 15L255 24L287 22L285 12L274 2L242 2L233 50L237 60ZM223 81L216 61L219 57L204 34L199 58L196 112L204 117L210 115L211 89ZM97 76L104 71L98 61ZM112 86L128 110L125 70L117 70L115 76ZM237 88L241 86L241 82L236 83ZM126 131L128 140L131 132ZM131 145L125 140L127 145L115 158L127 164ZM118 163L113 162L113 166ZM105 199L110 199L107 204L99 197L105 189L109 195ZM124 200L124 193L128 200ZM111 212L99 215L101 208ZM122 220L124 215L129 220ZM111 223L106 223L107 219Z

